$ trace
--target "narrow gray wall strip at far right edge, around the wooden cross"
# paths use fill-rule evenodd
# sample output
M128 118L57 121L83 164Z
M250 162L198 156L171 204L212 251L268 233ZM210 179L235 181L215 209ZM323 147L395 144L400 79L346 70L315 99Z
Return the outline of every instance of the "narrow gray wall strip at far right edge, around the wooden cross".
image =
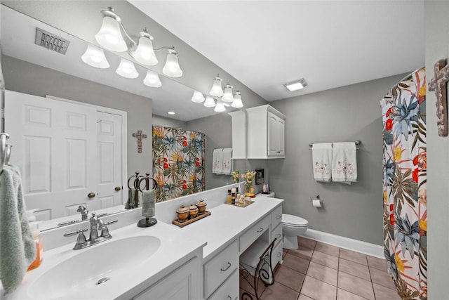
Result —
M449 58L449 2L424 1L424 13L426 81L429 82L434 78L434 63ZM427 89L426 97L429 299L448 299L449 138L437 133L435 93Z

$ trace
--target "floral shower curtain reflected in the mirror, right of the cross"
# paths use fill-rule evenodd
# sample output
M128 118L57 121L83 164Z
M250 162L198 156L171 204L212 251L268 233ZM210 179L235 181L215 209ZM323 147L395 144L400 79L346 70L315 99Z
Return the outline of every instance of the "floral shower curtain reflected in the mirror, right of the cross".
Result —
M153 126L152 136L156 202L203 191L206 135Z

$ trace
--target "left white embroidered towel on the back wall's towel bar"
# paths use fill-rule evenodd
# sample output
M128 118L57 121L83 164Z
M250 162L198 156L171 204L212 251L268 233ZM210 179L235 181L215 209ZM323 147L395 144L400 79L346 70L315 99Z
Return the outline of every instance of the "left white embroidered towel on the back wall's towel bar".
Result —
M311 157L315 180L329 182L332 176L332 144L313 144L311 147Z

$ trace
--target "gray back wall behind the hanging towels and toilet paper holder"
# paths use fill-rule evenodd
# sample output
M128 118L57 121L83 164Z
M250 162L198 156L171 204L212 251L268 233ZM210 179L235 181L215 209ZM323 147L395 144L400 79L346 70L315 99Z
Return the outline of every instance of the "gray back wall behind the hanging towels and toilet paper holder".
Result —
M410 70L413 71L413 70ZM379 100L404 76L363 82L270 104L286 115L286 159L269 160L269 181L283 211L309 228L383 244L382 111ZM358 180L320 183L312 174L309 143L361 141ZM320 195L324 207L311 206Z

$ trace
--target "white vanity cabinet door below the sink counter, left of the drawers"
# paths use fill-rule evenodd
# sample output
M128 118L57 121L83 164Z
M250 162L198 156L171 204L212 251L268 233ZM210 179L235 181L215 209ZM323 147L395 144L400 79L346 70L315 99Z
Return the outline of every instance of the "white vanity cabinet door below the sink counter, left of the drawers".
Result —
M173 273L145 289L133 300L196 300L201 299L199 258L191 259Z

